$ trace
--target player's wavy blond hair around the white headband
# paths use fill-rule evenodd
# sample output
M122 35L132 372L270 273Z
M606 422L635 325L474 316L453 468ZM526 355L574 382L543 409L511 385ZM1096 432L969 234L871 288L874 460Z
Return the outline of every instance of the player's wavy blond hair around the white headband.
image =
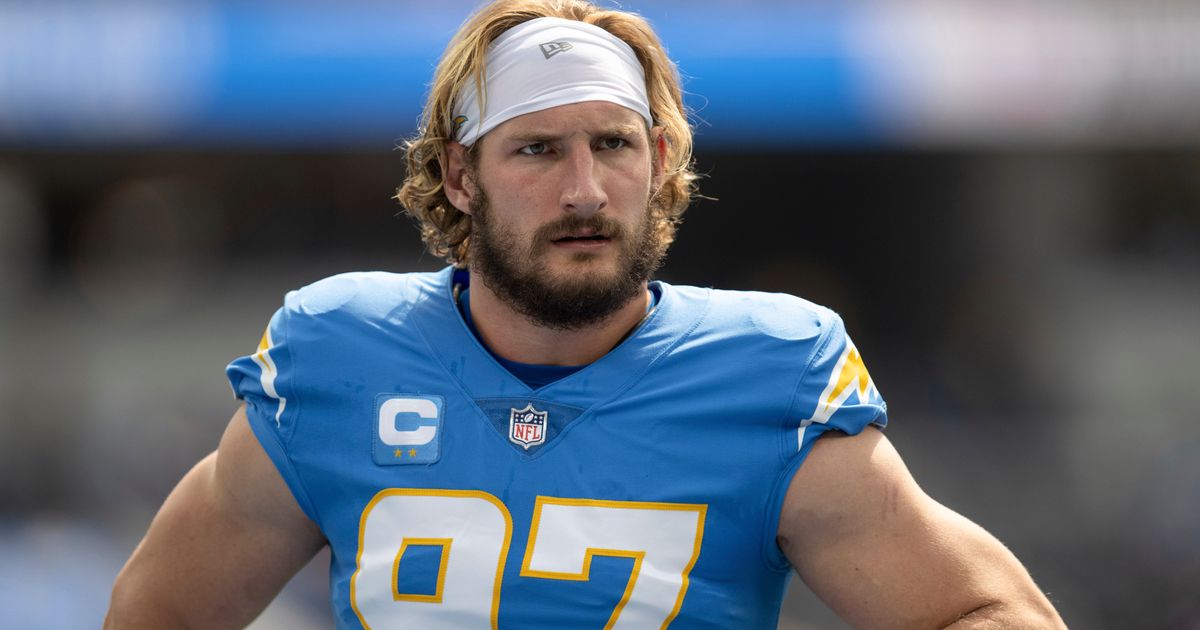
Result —
M454 139L454 104L466 82L485 94L487 47L504 31L530 19L557 17L599 26L629 44L646 73L650 115L662 127L666 169L652 205L656 236L664 247L696 193L691 127L683 106L679 76L658 35L635 13L600 8L584 0L500 0L487 5L458 29L433 74L418 136L404 144L408 174L396 199L420 223L421 239L434 256L464 266L470 256L470 215L455 208L443 188L446 143ZM475 145L478 146L478 144ZM468 150L473 157L473 151Z

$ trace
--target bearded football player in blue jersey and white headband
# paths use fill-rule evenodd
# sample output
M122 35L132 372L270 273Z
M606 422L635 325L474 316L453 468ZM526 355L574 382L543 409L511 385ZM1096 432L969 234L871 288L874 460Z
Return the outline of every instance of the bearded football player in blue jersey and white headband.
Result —
M834 313L649 281L690 155L641 18L481 10L398 193L452 266L287 296L106 626L245 625L324 545L337 628L775 628L792 569L859 626L1061 626L913 482Z

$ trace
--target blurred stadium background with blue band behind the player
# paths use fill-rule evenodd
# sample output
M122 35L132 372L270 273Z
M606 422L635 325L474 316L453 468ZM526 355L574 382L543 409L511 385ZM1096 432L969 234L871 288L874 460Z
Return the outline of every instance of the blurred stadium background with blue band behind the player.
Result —
M286 290L439 266L396 146L474 6L0 0L0 626L98 626ZM1200 5L625 7L719 199L660 277L833 306L1069 625L1200 629ZM324 562L253 628L328 628Z

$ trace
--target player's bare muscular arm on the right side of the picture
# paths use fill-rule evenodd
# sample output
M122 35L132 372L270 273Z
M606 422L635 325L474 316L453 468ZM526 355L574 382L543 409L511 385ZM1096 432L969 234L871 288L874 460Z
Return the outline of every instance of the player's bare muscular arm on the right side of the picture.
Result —
M1012 552L926 496L874 428L817 440L779 544L854 628L1066 628Z

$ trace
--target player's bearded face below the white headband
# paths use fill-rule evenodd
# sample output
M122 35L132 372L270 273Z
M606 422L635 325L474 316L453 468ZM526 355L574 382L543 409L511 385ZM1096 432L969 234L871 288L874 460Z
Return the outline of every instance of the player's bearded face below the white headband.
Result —
M641 116L560 106L504 122L476 151L470 264L492 292L571 330L643 290L666 247L649 208L658 151Z

